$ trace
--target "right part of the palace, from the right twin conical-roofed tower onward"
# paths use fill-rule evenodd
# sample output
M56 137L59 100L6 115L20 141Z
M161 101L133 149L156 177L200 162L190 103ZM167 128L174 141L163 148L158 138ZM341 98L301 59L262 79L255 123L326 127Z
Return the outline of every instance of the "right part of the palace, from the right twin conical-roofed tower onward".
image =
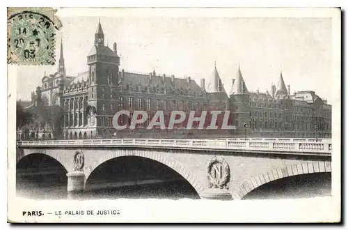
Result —
M314 91L291 94L282 72L271 93L261 93L248 91L239 69L230 102L239 135L246 130L253 137L331 137L331 105Z

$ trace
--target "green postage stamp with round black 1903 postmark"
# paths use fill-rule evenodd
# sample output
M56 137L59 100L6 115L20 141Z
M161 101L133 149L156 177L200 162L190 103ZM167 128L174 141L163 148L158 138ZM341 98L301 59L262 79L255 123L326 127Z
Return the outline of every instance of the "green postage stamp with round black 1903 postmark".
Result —
M52 8L8 8L8 63L54 65L56 29Z

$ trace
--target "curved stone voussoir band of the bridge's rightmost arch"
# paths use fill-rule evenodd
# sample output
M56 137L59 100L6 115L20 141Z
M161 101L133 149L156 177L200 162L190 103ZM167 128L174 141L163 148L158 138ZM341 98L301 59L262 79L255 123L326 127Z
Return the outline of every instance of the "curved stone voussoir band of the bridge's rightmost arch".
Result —
M242 183L237 190L232 192L232 198L242 199L246 194L255 190L255 188L271 181L276 181L280 178L315 173L331 173L331 162L308 162L303 164L293 164L280 169L272 169Z

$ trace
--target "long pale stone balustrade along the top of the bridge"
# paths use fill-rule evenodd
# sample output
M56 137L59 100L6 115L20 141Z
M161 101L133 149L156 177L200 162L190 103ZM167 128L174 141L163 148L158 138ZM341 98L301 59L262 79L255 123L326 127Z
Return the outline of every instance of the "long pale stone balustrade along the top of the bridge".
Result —
M332 151L331 139L316 142L308 139L77 139L17 141L17 146L139 146L329 154Z

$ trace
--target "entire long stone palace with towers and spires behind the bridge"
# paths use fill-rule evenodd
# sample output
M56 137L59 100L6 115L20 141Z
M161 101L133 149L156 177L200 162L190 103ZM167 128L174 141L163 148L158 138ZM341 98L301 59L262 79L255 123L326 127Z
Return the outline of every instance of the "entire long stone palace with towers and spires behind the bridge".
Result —
M113 43L113 49L104 45L100 22L95 42L87 55L87 65L88 69L77 76L66 75L61 43L58 71L45 75L42 86L31 95L32 105L29 107L35 107L38 102L63 107L62 137L65 139L244 137L245 133L249 137L331 136L331 105L313 91L290 95L281 73L279 84L271 86L271 93L250 92L239 68L228 95L216 66L207 86L205 79L201 79L198 85L190 77L158 74L155 70L149 74L120 70L117 44ZM147 123L135 130L116 130L112 124L113 116L125 109L131 116L134 110L147 111ZM230 123L236 129L187 130L184 128L185 120L173 130L147 130L146 126L157 110L164 111L166 123L173 110L187 114L195 110L198 116L203 110L230 111ZM216 125L221 127L222 120L219 117ZM121 116L118 122L129 124L130 119ZM34 135L35 138L55 138L52 129L39 129L37 133L41 135ZM24 136L19 134L19 137Z

